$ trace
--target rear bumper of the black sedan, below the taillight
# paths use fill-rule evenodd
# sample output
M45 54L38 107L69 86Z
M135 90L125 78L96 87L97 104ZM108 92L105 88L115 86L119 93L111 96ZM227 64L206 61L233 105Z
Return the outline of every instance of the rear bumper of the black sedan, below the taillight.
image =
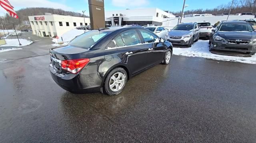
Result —
M100 92L100 79L98 75L83 74L58 74L56 70L49 66L52 79L64 90L72 93L92 93ZM96 78L92 80L92 78Z

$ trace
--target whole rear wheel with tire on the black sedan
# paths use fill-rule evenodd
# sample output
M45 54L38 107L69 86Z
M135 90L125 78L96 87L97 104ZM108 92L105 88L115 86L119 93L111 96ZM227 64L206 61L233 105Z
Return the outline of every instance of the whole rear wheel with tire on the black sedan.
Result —
M104 83L104 91L109 96L120 94L127 83L127 72L123 68L110 71Z

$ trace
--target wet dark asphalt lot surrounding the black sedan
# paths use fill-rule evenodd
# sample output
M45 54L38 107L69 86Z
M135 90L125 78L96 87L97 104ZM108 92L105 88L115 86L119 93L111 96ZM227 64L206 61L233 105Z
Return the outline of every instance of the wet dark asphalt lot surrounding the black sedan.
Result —
M255 65L174 55L106 96L60 88L43 51L9 52L0 54L9 58L0 63L2 143L256 141Z

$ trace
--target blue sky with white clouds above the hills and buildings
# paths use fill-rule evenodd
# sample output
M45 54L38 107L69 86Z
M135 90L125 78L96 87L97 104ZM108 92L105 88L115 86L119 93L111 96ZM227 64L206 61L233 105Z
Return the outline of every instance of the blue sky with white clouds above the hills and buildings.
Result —
M186 0L189 6L185 10L215 8L221 4L227 4L232 0ZM28 7L61 8L88 14L88 0L9 0L14 10ZM162 10L179 11L182 9L183 0L104 0L105 10L124 10L126 8L160 8ZM0 15L6 11L0 7Z

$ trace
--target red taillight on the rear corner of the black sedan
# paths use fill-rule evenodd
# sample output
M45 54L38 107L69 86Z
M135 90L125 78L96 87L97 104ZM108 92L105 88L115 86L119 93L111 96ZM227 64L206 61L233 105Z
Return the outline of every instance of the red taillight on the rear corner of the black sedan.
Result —
M81 69L83 69L89 62L90 59L64 60L61 61L61 68L76 74L81 71Z

